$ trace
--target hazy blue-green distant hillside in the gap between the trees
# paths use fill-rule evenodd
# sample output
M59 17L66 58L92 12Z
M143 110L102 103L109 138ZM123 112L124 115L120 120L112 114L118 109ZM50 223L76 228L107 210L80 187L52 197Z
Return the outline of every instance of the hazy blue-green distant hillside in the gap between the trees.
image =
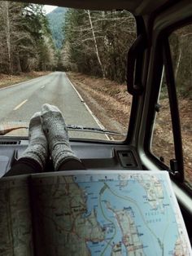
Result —
M64 15L67 8L57 7L55 10L51 11L46 15L50 24L50 31L55 43L55 47L60 49L63 42L63 22Z

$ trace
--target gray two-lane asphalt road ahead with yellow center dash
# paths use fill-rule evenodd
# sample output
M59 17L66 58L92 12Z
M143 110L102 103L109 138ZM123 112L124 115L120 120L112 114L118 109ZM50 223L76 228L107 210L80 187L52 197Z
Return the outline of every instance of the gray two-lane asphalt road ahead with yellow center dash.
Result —
M63 72L50 73L0 90L0 123L9 126L28 123L33 113L40 111L41 105L45 103L57 106L68 125L99 127ZM21 130L12 134L20 135ZM69 131L69 135L76 138L107 139L106 135L80 131Z

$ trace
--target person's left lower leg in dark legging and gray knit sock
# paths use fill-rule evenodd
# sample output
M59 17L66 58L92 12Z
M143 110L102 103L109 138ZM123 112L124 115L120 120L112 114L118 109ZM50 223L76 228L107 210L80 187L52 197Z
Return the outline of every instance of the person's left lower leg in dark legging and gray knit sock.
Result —
M28 148L4 176L33 174L44 170L48 144L41 128L40 113L35 113L29 122L28 140Z

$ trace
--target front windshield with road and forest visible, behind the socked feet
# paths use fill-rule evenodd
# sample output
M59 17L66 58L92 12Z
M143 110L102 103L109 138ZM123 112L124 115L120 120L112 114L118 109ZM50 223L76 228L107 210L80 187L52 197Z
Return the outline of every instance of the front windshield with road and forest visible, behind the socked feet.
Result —
M62 111L71 138L124 140L132 103L126 58L135 38L129 11L1 1L0 130L28 136L30 117L48 103Z

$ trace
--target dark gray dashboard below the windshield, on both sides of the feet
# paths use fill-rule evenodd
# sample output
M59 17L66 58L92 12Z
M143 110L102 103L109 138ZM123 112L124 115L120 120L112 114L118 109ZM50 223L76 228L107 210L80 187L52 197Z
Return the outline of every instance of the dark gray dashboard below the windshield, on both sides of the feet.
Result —
M116 143L71 142L72 150L87 170L142 170L135 149ZM10 170L28 147L27 139L0 140L0 174ZM50 162L51 163L51 162ZM49 170L52 170L50 165Z

